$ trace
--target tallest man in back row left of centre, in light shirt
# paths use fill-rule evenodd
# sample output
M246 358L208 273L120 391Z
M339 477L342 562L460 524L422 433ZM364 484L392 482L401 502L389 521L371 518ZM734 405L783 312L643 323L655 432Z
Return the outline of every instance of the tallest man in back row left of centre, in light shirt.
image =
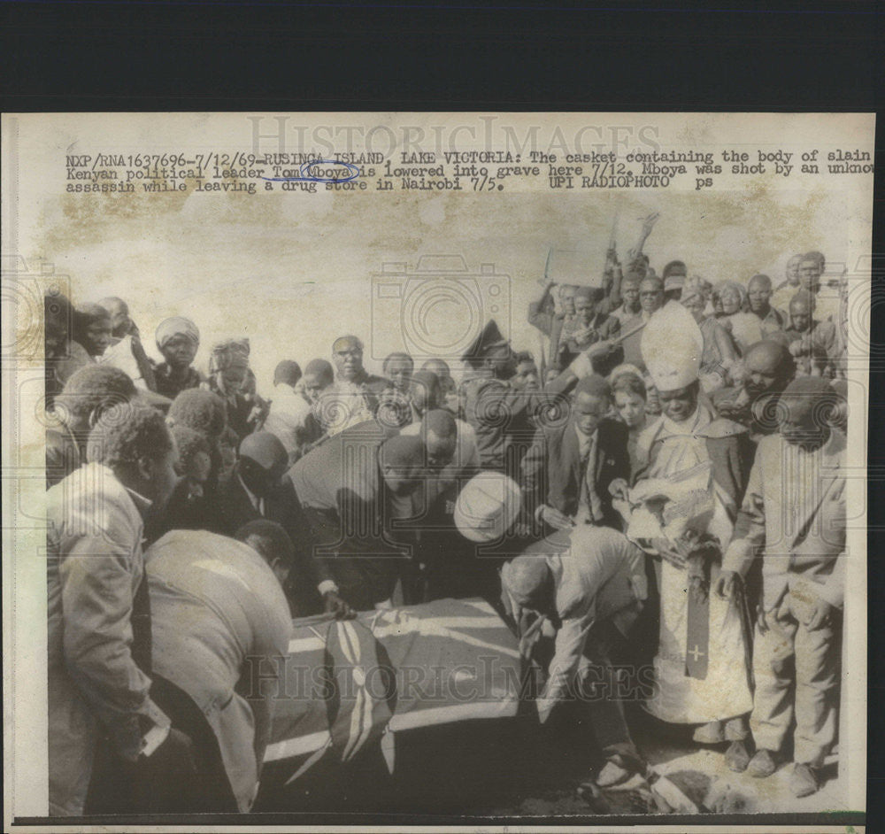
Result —
M335 382L323 391L318 416L329 436L369 420L378 411L378 398L387 387L382 376L363 367L363 343L357 336L341 336L332 344Z

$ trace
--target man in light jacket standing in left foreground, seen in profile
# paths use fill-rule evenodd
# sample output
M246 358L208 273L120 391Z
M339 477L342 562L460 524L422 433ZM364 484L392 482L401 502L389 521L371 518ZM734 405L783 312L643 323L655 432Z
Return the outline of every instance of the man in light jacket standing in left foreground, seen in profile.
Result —
M138 809L157 768L189 770L189 739L149 695L142 582L144 520L172 494L175 454L161 413L120 406L47 493L50 815Z

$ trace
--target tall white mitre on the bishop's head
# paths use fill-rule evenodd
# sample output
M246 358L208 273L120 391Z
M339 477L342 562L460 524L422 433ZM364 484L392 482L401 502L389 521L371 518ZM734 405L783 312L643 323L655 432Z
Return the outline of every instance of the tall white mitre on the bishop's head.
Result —
M696 381L704 336L694 316L678 301L670 301L645 326L642 351L655 388L674 391Z

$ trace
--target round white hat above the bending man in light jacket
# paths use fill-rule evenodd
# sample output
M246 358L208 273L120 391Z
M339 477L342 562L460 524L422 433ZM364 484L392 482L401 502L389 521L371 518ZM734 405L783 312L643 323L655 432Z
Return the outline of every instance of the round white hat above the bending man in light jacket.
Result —
M519 515L519 485L501 472L473 475L455 502L455 525L472 542L495 542Z

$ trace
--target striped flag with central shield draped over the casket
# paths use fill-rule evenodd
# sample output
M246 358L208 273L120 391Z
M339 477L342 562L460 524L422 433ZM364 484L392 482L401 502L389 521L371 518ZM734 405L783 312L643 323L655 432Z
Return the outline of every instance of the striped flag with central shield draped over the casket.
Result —
M397 730L517 714L517 639L481 599L294 624L265 755L289 782L379 743L392 765Z

